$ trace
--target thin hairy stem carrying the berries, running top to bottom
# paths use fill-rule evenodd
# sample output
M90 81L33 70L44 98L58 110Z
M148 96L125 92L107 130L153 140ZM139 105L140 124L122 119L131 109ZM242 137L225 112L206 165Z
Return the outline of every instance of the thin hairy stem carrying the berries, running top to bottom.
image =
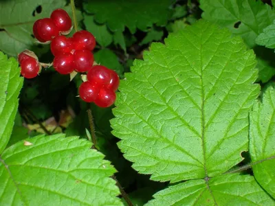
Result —
M74 5L74 0L70 0L70 1L71 1L71 6L72 6L72 13L73 13L74 30L75 30L75 32L77 32L78 25L77 25L77 19L76 19L76 6ZM91 130L91 140L93 141L92 148L98 150L96 148L96 129L94 126L94 117L93 117L90 107L88 108L87 113L88 113L88 118L89 118L89 127ZM118 186L118 188L120 190L120 194L121 194L122 198L124 198L124 200L126 201L127 205L133 206L133 203L131 203L131 200L130 200L128 194L126 194L126 192L122 188L122 185L120 185L119 181L115 178L114 174L111 176L111 178L115 181L115 184Z

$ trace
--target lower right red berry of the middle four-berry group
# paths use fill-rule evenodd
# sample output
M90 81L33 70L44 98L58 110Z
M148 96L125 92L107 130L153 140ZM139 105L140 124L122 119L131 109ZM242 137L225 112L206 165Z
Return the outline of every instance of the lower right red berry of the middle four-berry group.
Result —
M74 64L76 66L76 71L88 71L94 64L94 55L86 49L76 50L74 52Z

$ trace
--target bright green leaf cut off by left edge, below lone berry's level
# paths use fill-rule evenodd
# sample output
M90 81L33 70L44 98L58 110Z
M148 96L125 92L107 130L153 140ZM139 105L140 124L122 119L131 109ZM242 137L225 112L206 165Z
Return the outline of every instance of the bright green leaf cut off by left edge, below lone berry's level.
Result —
M18 62L0 52L0 154L7 146L17 114L18 96L23 85Z

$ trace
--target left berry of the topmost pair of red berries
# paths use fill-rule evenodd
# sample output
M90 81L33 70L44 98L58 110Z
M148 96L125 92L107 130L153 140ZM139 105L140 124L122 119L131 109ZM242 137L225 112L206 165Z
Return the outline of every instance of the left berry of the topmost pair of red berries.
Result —
M59 35L58 27L50 18L39 19L34 23L34 36L41 42L51 41L52 38Z

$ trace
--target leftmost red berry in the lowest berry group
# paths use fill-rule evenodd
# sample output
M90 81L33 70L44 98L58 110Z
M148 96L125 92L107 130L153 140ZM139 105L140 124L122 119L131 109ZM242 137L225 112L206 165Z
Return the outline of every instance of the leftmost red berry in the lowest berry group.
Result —
M100 88L93 82L83 82L79 87L79 96L85 102L94 102L98 96Z

